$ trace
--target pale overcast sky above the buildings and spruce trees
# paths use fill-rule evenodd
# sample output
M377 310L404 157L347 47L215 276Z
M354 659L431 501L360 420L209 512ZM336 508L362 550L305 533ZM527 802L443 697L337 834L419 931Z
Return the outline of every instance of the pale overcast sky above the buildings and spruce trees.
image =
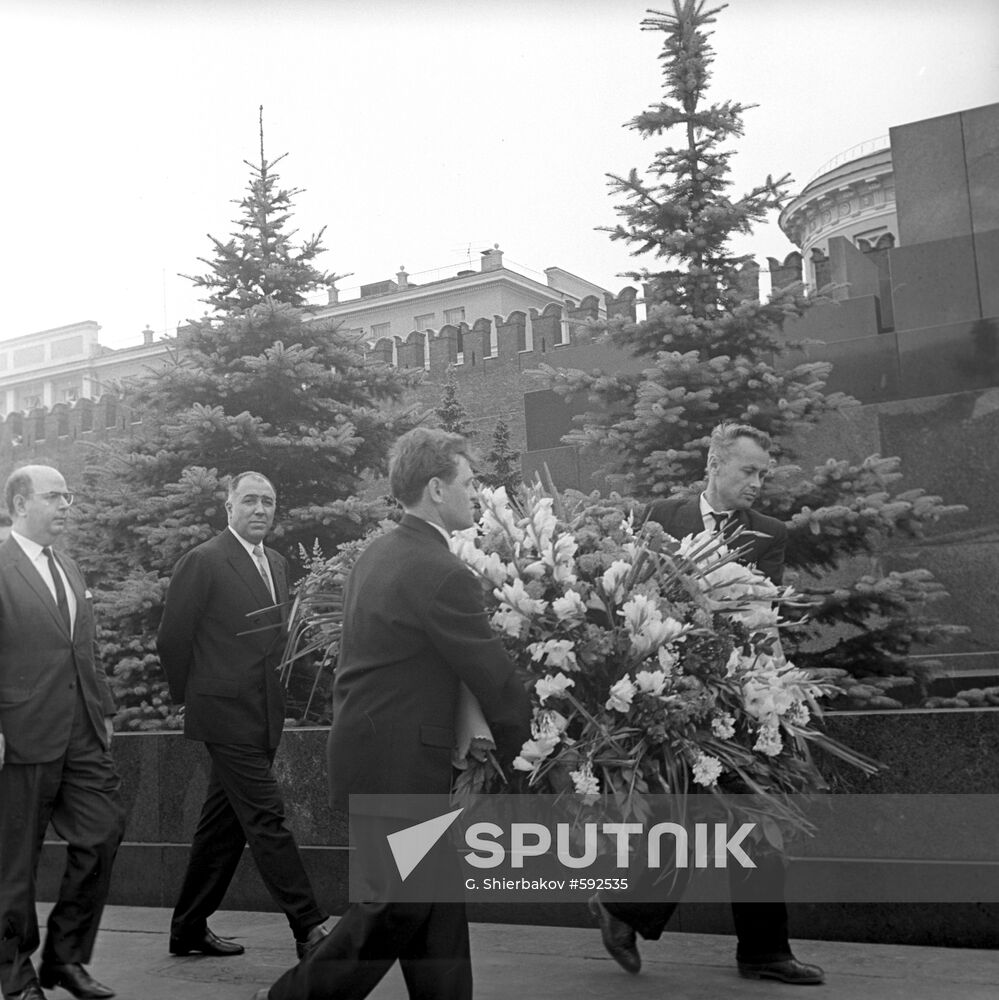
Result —
M650 6L3 0L0 338L93 319L128 346L201 315L178 273L232 230L260 104L282 183L305 189L296 222L327 227L347 294L494 243L617 291L635 261L596 231L617 220L605 174L666 145L622 127L661 96ZM733 0L713 45L710 96L759 105L736 193L768 173L800 190L894 125L999 101L995 0ZM793 247L774 220L753 249Z

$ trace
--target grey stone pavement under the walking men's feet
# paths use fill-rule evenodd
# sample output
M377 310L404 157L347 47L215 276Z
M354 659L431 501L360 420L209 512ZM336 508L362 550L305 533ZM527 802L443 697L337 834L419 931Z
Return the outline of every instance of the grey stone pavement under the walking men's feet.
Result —
M39 916L47 906L39 907ZM90 971L121 1000L249 1000L295 962L284 917L225 911L212 930L246 946L238 958L175 958L167 951L170 912L110 906ZM608 958L596 929L473 924L476 1000L996 1000L999 951L796 941L799 958L826 970L818 987L739 978L735 941L669 933L642 945L643 969L629 976ZM69 994L51 990L61 1000ZM398 966L371 994L406 1000Z

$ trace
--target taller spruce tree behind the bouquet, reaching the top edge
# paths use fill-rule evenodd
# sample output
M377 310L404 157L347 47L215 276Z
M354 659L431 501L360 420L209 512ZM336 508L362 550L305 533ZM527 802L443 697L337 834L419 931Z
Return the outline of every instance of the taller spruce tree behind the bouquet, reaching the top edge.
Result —
M927 615L942 589L922 570L865 572L835 586L823 585L822 576L850 557L875 563L892 538L919 537L960 508L922 490L894 493L894 458L872 455L857 465L830 458L810 473L790 464L802 432L855 401L827 393L830 366L800 363L800 345L782 336L787 320L812 307L803 290L777 289L769 301L756 301L744 290L750 258L730 249L733 237L751 233L781 206L790 178L767 177L741 197L730 193L729 144L742 135L749 106L707 100L707 29L723 9L674 0L671 11L649 11L642 21L643 30L663 35L664 96L628 127L644 138L670 133L680 141L658 152L645 174L608 175L622 199L622 221L607 231L662 269L626 275L645 286L644 321L602 326L639 360L636 370L554 374L563 395L589 400L566 440L600 456L615 485L648 500L700 487L710 431L720 421L769 433L781 465L760 508L789 522L787 566L800 572L799 588L814 601L793 658L877 678L855 686L854 695L888 705L883 692L893 682L883 678L916 672L914 647L955 631Z

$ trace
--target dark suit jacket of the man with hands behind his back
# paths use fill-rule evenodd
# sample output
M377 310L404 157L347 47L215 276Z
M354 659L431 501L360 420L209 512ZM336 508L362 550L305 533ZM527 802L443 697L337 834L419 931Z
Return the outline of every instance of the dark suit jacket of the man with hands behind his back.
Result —
M260 571L228 528L174 567L156 649L171 698L185 705L188 739L267 748L281 740L288 575L283 556L264 552L282 605L271 611L262 610L274 601Z

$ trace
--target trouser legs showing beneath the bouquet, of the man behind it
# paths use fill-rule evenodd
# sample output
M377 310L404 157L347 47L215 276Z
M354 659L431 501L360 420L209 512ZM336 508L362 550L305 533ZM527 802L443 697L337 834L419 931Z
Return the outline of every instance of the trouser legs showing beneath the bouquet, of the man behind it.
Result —
M752 852L750 852L752 855ZM787 905L784 903L784 860L779 855L753 856L756 868L728 869L732 920L737 938L736 959L740 962L779 962L791 957L787 934ZM679 869L676 877L666 877L653 885L659 872L632 877L628 899L620 893L601 895L607 911L634 928L643 938L658 941L680 904L690 881L690 869ZM655 895L666 897L651 900Z

